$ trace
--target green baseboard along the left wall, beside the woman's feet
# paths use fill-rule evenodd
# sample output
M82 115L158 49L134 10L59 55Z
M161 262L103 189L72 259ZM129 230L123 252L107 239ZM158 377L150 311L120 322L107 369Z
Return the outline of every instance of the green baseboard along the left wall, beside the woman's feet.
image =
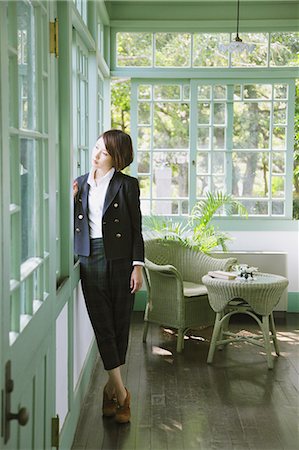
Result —
M74 440L81 406L84 396L87 392L92 370L94 368L95 358L97 355L97 347L94 342L89 350L89 354L85 359L84 366L81 371L79 381L77 383L77 390L74 391L72 409L68 413L60 433L59 447L61 449L70 449Z

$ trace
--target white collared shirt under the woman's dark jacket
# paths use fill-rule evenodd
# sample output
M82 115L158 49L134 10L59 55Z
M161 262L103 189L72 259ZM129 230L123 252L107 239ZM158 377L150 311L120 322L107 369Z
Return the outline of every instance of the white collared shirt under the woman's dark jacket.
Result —
M88 193L88 221L91 238L103 237L102 215L105 197L111 178L115 169L112 167L104 177L94 178L96 169L92 168L89 172L87 183L89 184Z

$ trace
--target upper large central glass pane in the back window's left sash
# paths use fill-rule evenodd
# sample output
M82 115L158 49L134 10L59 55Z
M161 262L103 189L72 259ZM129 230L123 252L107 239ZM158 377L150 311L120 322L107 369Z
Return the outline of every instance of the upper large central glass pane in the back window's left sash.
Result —
M189 104L156 103L154 148L189 148Z

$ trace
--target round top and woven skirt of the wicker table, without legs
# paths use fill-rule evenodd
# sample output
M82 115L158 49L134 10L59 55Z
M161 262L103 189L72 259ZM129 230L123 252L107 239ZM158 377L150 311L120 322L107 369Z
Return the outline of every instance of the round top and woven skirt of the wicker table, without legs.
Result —
M257 273L253 280L224 280L205 275L202 282L207 287L209 302L214 311L220 312L231 300L241 298L261 315L273 311L289 283L287 278L270 273Z

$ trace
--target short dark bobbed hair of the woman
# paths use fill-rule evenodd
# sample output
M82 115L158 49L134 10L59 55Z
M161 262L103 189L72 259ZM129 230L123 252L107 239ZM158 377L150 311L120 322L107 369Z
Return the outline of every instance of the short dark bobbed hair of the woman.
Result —
M108 130L99 137L103 138L117 172L131 164L134 158L131 136L121 130Z

